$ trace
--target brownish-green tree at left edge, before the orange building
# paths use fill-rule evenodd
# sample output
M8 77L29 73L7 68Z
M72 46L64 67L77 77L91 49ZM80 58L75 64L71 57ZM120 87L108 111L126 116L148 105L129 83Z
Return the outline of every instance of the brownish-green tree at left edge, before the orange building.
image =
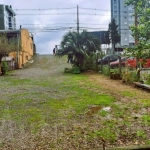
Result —
M8 39L6 34L0 34L0 63L3 56L16 51L17 48L18 42L15 38Z

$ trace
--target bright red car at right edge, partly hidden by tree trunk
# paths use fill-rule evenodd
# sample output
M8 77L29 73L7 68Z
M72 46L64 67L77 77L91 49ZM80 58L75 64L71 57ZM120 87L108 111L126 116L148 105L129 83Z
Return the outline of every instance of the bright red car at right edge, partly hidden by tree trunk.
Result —
M142 68L150 68L150 58L148 59L140 59L140 65ZM135 57L130 57L126 60L126 66L131 68L137 67L137 60Z

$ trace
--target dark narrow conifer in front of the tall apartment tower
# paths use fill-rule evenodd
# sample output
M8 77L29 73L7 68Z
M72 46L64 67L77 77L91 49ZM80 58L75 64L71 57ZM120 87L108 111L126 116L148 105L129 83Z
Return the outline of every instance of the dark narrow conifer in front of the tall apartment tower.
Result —
M112 19L109 23L108 33L112 42L113 54L115 53L115 45L120 42L120 35L118 33L118 25L116 25L115 19Z

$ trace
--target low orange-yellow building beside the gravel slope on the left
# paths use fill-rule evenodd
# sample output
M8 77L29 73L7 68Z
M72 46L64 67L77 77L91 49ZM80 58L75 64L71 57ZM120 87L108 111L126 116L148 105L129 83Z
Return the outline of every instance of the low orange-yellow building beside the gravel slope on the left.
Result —
M17 48L14 52L8 54L15 61L15 68L22 68L36 54L33 35L27 29L3 30L0 33L6 33L7 38L17 40Z

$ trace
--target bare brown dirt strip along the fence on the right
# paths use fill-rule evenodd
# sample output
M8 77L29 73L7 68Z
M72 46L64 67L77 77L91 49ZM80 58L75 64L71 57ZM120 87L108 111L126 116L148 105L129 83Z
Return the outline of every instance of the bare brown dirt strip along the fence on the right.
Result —
M150 92L145 91L140 88L136 88L133 85L125 84L122 82L122 80L112 80L108 77L105 77L100 74L87 74L89 76L90 82L94 82L97 85L100 86L100 88L103 88L106 92L109 91L113 95L121 96L121 93L125 94L126 92L131 93L132 95L130 97L134 97L134 99L150 99ZM125 98L122 98L125 100Z

